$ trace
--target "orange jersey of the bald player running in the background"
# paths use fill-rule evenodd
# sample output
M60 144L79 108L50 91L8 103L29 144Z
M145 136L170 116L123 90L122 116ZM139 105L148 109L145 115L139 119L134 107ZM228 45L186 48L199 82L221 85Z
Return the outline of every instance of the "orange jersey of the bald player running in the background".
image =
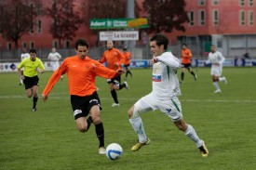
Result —
M108 68L116 71L117 69L121 69L124 59L125 57L118 49L112 48L103 53L100 62L107 62Z

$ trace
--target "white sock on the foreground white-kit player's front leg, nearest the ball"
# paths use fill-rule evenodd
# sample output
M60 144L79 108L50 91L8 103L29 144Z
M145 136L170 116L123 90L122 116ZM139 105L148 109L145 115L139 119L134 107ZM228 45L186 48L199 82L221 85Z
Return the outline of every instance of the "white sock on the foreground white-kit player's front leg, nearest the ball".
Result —
M147 140L144 128L143 128L143 123L141 121L141 117L133 117L129 119L129 123L132 125L134 131L137 133L139 137L139 142L145 142Z

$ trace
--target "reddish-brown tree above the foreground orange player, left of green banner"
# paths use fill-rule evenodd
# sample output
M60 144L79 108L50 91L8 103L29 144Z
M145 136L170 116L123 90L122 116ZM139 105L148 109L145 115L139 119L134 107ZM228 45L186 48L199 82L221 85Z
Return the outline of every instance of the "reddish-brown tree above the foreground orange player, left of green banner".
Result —
M46 15L53 22L49 32L59 40L73 40L82 20L79 13L74 11L74 0L53 0L51 7L46 7Z

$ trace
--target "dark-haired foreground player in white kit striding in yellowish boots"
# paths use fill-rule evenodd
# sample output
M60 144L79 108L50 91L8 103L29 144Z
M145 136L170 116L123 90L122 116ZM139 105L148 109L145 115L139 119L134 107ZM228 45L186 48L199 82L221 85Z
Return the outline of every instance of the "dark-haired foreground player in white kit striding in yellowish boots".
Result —
M165 113L172 122L182 130L184 134L195 142L202 157L207 157L209 151L205 143L200 139L192 125L186 124L182 119L182 105L178 98L181 95L177 69L181 67L179 59L171 52L167 52L168 38L157 33L150 39L150 48L154 55L153 62L153 90L150 94L139 99L129 110L129 123L137 133L139 140L131 150L140 150L142 146L149 144L140 114L146 111L160 110Z

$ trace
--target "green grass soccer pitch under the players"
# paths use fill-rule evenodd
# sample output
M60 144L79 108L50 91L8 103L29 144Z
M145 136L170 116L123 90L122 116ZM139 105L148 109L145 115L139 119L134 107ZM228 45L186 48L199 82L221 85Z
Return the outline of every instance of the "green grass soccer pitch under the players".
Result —
M1 73L0 169L255 169L256 68L223 68L228 84L219 84L220 94L213 93L209 68L197 70L196 82L185 72L180 100L184 120L206 142L208 158L202 158L194 142L160 111L141 115L151 144L132 152L137 136L127 112L151 92L152 70L131 70L130 89L117 92L121 106L115 108L111 107L113 99L106 80L97 78L106 146L115 142L124 150L115 162L98 154L93 125L85 134L76 129L66 76L43 102L41 93L51 72L39 75L40 98L33 112L32 98L26 98L24 88L18 85L18 74Z

